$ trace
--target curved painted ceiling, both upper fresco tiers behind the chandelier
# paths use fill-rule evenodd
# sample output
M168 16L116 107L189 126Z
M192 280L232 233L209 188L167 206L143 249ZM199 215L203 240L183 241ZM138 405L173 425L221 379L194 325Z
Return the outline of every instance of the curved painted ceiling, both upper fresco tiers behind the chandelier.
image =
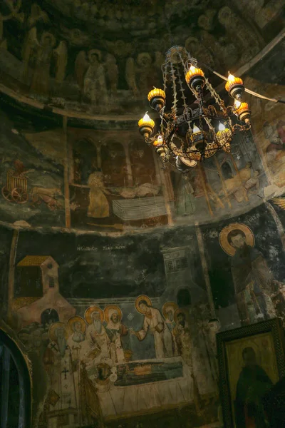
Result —
M254 132L236 136L231 155L220 153L186 176L162 170L137 122L175 44L223 75L237 71L254 91L284 97L282 6L3 1L1 220L123 233L212 223L281 195L282 106L248 97ZM221 79L206 73L223 91Z

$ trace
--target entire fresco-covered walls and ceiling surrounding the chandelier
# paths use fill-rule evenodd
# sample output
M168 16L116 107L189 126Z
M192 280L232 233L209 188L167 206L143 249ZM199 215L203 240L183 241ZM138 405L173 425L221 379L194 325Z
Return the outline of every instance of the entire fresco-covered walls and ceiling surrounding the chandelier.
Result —
M285 374L284 2L2 3L0 328L31 428L265 428ZM251 131L187 173L138 133L170 41L223 100L229 69L267 97L246 91Z

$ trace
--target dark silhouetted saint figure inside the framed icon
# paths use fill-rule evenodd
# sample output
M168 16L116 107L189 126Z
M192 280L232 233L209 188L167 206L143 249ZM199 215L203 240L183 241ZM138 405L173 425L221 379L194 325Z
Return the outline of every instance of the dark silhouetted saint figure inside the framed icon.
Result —
M257 357L252 347L244 348L242 358L244 367L239 374L234 401L237 428L269 427L264 414L262 397L271 388L271 379L257 364Z

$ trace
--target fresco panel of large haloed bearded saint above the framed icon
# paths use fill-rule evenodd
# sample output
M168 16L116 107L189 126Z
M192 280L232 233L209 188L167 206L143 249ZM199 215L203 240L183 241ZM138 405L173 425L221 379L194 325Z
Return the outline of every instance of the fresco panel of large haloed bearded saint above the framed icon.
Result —
M266 204L202 228L214 302L227 328L284 317L284 232L274 204Z

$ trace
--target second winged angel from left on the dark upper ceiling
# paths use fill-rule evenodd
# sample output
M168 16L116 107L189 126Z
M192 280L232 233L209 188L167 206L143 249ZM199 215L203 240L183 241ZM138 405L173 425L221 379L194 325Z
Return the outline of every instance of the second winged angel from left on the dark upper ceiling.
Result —
M105 106L108 93L105 79L105 67L101 62L101 52L91 49L79 52L76 57L76 79L81 91L94 106Z

